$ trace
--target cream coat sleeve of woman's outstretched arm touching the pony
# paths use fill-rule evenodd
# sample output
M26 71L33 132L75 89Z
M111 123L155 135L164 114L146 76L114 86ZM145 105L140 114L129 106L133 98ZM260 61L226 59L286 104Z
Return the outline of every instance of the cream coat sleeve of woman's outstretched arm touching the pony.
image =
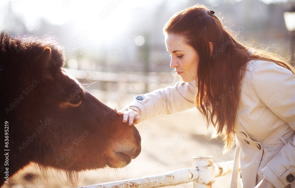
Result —
M141 121L159 115L169 115L195 107L194 94L197 89L197 80L191 82L176 82L171 87L154 90L134 97L125 108L137 107L140 109Z

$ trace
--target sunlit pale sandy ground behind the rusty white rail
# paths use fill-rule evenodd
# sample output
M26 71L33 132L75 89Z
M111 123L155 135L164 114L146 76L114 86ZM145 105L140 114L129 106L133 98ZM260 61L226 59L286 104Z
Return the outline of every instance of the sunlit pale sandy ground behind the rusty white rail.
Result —
M126 99L130 102L132 97ZM106 103L111 106L110 104ZM142 151L131 163L118 169L106 168L87 171L81 175L79 186L99 184L124 179L167 173L179 168L192 167L193 156L213 156L214 163L231 161L234 150L222 155L222 143L211 139L212 131L206 132L206 125L197 109L160 116L136 125L142 138ZM170 153L167 155L167 151ZM47 180L44 180L46 177ZM213 188L230 187L231 174L216 178ZM60 173L52 171L40 173L34 165L28 166L14 177L3 188L27 187L73 187L66 183ZM192 183L169 186L174 188L189 188Z

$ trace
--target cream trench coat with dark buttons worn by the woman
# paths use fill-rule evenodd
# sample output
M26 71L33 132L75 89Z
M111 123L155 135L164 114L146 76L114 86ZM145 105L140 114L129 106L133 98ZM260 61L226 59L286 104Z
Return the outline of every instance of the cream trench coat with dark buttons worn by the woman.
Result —
M137 96L127 107L139 108L141 121L173 114L195 107L196 89L196 80L177 82ZM248 62L234 131L243 187L253 188L265 177L275 187L295 188L295 75L291 71L273 62Z

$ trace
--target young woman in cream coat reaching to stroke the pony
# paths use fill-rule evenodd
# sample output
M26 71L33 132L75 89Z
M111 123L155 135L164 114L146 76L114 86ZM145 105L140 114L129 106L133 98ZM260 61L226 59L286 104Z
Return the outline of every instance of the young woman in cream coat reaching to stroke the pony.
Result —
M284 59L237 42L214 11L196 5L164 26L165 44L183 82L135 97L123 122L196 108L237 145L232 186L295 188L295 72Z

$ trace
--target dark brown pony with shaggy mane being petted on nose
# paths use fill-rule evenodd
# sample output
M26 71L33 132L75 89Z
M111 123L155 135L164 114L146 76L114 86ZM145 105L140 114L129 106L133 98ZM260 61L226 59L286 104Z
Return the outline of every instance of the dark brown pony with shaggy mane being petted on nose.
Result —
M137 129L66 74L64 62L51 37L1 32L0 186L31 162L76 182L79 171L124 167L139 155Z

